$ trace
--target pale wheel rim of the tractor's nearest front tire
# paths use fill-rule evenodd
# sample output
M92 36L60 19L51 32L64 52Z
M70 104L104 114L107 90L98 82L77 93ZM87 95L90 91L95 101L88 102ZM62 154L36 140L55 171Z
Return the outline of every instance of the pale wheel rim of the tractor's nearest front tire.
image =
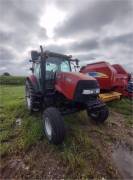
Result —
M52 126L51 126L51 123L50 123L48 117L45 118L45 133L46 133L48 139L51 140L51 138L52 138Z

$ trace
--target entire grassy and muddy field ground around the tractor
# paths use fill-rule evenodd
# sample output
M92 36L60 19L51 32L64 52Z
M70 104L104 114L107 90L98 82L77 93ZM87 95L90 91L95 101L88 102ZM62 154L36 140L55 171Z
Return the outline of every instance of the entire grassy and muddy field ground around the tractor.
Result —
M108 106L103 125L91 122L86 112L66 116L66 139L55 146L43 135L41 113L27 111L24 86L1 85L1 178L133 178L132 102Z

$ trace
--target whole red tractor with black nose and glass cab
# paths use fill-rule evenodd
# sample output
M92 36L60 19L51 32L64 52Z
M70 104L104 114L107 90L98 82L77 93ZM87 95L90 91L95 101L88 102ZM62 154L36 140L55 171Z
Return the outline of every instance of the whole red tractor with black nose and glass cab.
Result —
M96 122L108 118L99 99L96 79L79 72L78 60L49 51L31 51L32 75L26 78L26 103L30 111L43 110L42 124L48 140L60 144L65 137L63 116L86 110ZM73 68L74 67L74 68Z

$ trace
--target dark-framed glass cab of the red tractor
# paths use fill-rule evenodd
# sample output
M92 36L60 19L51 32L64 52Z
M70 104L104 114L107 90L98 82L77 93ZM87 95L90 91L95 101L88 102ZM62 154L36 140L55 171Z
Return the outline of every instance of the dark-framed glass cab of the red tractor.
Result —
M50 51L38 53L31 51L30 62L32 62L32 72L36 77L40 91L54 90L57 74L63 72L77 72L78 59L72 59L72 56L62 55Z

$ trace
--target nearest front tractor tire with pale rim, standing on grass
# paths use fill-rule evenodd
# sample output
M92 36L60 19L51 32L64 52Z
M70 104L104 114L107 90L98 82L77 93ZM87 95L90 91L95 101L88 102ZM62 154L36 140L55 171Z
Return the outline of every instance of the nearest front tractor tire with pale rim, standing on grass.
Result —
M62 144L65 138L65 125L57 108L49 107L43 112L43 129L49 142Z

